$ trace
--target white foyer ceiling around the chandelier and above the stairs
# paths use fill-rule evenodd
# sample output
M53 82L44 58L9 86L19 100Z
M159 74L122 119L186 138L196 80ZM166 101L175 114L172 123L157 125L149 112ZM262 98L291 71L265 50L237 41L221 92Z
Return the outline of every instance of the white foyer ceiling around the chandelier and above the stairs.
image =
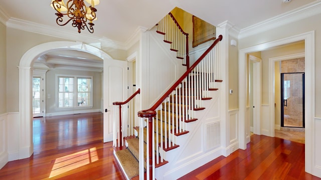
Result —
M234 29L242 30L314 1L319 0L291 0L287 3L283 0L100 0L95 6L97 20L94 21L93 34L86 29L78 34L70 22L65 26L57 25L51 0L0 0L0 17L39 24L52 30L64 29L83 38L92 36L126 43L137 28L151 28L176 6L213 25L228 20Z

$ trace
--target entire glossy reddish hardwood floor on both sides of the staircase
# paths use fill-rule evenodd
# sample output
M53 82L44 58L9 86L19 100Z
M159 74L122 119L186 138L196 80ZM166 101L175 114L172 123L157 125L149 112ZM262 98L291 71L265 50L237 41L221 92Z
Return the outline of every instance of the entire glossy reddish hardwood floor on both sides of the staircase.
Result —
M0 179L125 179L102 113L34 118L34 154L8 162ZM304 144L252 135L246 150L220 156L181 179L321 179L304 172Z

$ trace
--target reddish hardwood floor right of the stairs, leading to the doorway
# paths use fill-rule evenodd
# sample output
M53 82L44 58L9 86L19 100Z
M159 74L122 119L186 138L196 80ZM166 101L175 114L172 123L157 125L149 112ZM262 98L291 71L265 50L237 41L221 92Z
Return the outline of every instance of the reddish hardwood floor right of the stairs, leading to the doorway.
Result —
M220 156L183 179L321 179L304 172L304 144L251 135L245 150Z

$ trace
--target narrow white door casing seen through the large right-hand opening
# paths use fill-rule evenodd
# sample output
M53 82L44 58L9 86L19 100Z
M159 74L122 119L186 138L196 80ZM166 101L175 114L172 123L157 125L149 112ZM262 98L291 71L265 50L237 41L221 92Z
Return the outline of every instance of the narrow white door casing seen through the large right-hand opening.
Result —
M261 134L261 95L262 95L262 59L255 57L253 55L249 55L249 61L253 62L253 133Z

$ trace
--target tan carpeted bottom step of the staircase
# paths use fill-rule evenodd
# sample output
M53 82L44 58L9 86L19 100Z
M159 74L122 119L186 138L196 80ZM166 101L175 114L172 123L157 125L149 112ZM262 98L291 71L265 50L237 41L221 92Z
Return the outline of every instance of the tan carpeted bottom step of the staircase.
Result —
M139 163L129 149L118 150L115 154L129 179L139 175Z

